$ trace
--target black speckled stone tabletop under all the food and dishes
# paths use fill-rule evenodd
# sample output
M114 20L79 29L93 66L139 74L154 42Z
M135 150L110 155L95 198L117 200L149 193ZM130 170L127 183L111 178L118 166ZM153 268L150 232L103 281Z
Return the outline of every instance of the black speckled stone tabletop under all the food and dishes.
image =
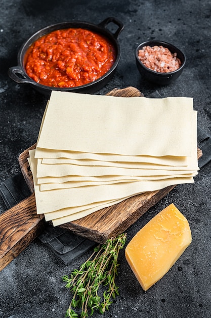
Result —
M135 86L145 96L157 90L163 97L194 100L198 125L211 130L211 3L209 0L1 0L0 10L0 182L20 172L19 154L36 142L47 98L8 77L17 65L22 43L35 31L71 20L100 23L108 16L125 27L119 36L121 59L113 79L98 94L114 87ZM186 68L169 86L155 86L141 78L134 57L146 40L171 42L184 51ZM119 256L119 297L104 317L180 318L211 316L210 274L211 163L199 171L194 184L178 185L127 231L128 241L147 221L170 203L187 217L192 243L172 269L146 293L124 258ZM0 233L1 239L1 233ZM70 301L61 277L84 262L90 252L64 266L54 253L35 239L0 272L1 318L61 318ZM102 317L95 313L94 317Z

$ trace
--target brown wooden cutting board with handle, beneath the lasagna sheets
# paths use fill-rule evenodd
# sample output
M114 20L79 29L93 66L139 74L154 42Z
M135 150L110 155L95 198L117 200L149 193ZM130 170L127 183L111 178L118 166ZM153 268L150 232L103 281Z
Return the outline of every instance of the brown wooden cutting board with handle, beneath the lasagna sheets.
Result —
M143 96L134 87L114 89L108 95ZM2 238L0 242L0 270L9 264L45 227L44 215L36 214L33 177L27 161L28 151L34 149L35 146L34 144L19 156L21 171L31 190L31 196L0 215L0 234ZM202 152L198 149L198 158L201 155ZM61 227L96 242L104 243L108 238L125 232L174 187L175 185L172 185L161 190L131 197Z

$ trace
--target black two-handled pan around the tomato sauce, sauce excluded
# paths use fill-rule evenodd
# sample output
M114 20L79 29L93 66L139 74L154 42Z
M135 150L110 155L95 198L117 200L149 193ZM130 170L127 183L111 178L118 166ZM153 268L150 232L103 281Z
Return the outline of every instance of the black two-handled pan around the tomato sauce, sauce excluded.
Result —
M118 26L115 33L112 33L108 28L107 25L109 23L113 22ZM111 43L113 44L115 50L116 50L116 60L111 67L111 69L102 77L97 79L94 82L90 82L89 84L82 85L82 86L75 86L75 87L65 87L65 88L57 88L57 87L50 87L41 85L39 83L36 83L34 80L32 80L25 71L24 68L24 56L26 54L26 51L31 46L31 44L39 39L40 37L51 33L52 31L59 30L59 29L65 29L65 28L83 28L88 29L91 31L94 31L105 38L109 39ZM72 91L72 92L80 92L80 93L94 93L97 90L101 89L103 86L107 84L107 82L112 78L116 67L118 65L119 59L120 59L120 46L118 42L118 36L122 29L124 28L124 25L117 20L116 18L109 17L105 20L103 20L99 24L92 24L89 22L83 22L83 21L71 21L71 22L63 22L63 23L57 23L50 26L47 26L39 31L37 31L34 35L32 35L20 48L18 52L18 66L11 67L8 71L8 75L11 79L13 79L16 83L28 83L32 85L36 90L38 90L41 93L46 94L47 96L50 95L52 90L60 90L60 91Z

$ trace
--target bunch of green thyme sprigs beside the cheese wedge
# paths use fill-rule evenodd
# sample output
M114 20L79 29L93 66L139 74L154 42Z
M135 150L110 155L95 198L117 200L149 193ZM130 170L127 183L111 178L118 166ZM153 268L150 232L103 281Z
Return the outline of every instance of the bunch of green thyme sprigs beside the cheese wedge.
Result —
M115 278L118 275L117 264L119 250L126 242L126 234L108 239L105 244L94 248L91 257L83 263L79 270L62 277L65 287L72 292L72 300L66 311L65 317L75 318L78 314L75 308L81 308L80 317L85 318L93 315L94 310L104 313L112 304L112 298L119 295ZM100 287L104 287L102 292ZM101 296L100 296L101 295Z

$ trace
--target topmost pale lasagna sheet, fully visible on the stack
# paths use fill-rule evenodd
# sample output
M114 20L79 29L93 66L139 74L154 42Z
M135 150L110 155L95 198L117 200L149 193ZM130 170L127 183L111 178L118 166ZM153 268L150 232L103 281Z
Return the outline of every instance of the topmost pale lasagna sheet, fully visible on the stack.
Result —
M192 112L193 101L185 97L128 99L52 91L37 147L122 155L188 156L191 155Z

